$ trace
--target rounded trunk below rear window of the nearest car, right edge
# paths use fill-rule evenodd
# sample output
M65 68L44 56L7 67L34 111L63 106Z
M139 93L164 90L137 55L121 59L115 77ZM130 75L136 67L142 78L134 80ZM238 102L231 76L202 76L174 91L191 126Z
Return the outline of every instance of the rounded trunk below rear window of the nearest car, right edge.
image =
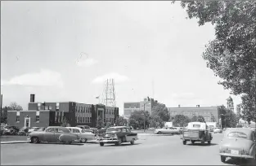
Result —
M254 142L244 138L224 138L220 144L222 148L244 149L249 151Z

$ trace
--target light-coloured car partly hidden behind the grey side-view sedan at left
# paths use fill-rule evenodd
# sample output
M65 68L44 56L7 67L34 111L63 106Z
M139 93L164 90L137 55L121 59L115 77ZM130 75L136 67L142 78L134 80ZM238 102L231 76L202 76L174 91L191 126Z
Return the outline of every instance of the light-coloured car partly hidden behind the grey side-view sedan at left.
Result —
M96 140L95 134L92 132L86 131L79 127L66 127L66 128L70 129L71 133L78 134L82 143L85 143L91 140Z

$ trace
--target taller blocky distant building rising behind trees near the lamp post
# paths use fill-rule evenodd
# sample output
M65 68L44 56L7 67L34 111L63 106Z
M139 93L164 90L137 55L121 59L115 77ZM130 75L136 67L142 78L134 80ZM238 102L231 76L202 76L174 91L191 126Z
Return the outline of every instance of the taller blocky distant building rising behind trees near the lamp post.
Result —
M145 106L144 106L145 103ZM152 112L152 108L154 106L154 103L157 103L154 98L144 98L144 101L141 102L130 102L130 103L124 103L124 118L128 119L133 111L140 111L144 110L148 111L149 113Z

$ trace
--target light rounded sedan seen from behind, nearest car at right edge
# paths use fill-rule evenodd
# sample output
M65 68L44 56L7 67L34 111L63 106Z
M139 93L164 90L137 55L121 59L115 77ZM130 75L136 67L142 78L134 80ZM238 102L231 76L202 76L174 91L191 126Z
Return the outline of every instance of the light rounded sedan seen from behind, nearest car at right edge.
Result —
M231 128L224 133L219 146L219 155L224 163L227 157L256 159L256 137L251 129Z

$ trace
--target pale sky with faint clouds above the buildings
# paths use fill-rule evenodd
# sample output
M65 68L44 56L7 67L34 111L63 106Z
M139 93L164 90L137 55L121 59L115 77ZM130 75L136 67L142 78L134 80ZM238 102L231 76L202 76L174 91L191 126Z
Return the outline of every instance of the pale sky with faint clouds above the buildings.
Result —
M29 94L95 104L114 78L120 115L153 94L167 107L226 106L201 56L213 25L196 21L178 2L1 2L3 105L27 109Z

